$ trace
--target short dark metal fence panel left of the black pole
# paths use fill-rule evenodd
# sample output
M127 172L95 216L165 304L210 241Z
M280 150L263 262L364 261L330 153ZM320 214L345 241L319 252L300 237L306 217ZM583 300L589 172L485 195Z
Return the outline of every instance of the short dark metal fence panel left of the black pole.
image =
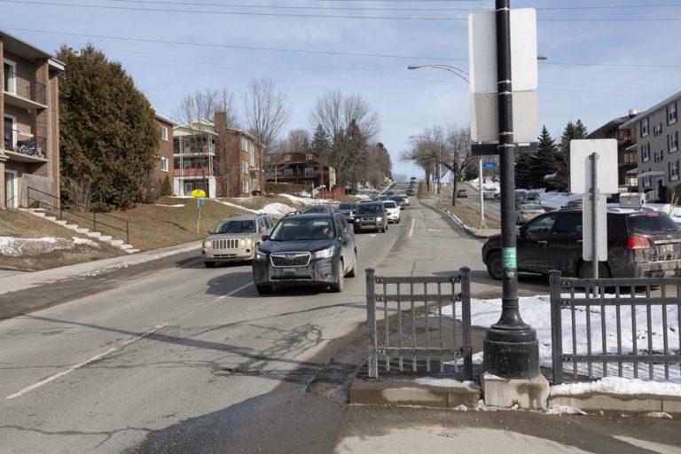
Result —
M439 362L440 372L445 363L458 372L461 361L464 379L473 379L468 272L462 268L452 276L395 278L366 270L369 377L378 378L379 357L383 356L385 372L390 372L391 357L397 358L400 372L405 360L411 363L412 372L417 372L419 360L425 362L426 372L431 372L431 361ZM378 312L383 314L382 333L378 333ZM392 314L396 317L388 317Z

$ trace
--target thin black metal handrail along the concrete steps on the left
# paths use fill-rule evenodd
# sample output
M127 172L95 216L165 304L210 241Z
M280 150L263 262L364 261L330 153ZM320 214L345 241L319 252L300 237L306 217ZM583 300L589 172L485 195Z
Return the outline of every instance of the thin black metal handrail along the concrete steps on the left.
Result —
M88 226L92 226L92 231L99 231L102 226L108 227L114 231L121 231L122 233L125 233L126 244L130 243L129 223L120 217L100 213L88 207L74 204L73 202L69 202L69 205L66 206L58 197L47 192L39 191L30 186L27 188L27 206L29 208L47 209L51 213L54 213L54 215L57 215L59 219L64 219L64 213L66 212L70 216L86 221ZM73 209L74 207L78 209Z

